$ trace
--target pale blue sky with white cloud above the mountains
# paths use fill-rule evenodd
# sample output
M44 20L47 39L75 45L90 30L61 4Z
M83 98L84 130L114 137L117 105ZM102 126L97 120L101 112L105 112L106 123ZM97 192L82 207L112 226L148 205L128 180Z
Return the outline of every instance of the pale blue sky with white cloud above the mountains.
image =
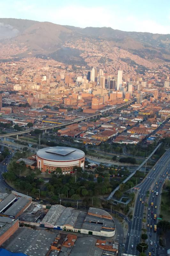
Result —
M0 17L170 34L170 0L0 0Z

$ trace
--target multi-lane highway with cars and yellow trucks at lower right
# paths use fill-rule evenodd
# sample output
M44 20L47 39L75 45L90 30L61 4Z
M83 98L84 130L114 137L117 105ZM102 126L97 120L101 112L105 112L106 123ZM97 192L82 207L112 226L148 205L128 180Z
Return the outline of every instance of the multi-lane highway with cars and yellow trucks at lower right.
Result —
M132 221L132 227L131 227L130 232L128 233L129 242L128 242L128 244L126 244L126 247L125 247L125 251L127 251L128 254L138 255L138 253L139 253L136 250L136 245L139 244L140 240L141 240L141 229L144 226L144 223L142 222L144 216L146 216L146 224L145 225L149 224L149 227L147 227L148 234L151 233L151 237L148 237L148 240L149 240L148 242L151 242L153 240L152 241L153 244L157 243L156 234L153 231L154 220L153 220L153 214L151 214L151 212L157 212L157 215L158 215L158 208L155 208L155 205L158 204L157 200L159 199L159 197L156 196L156 193L151 192L151 191L152 190L158 191L159 195L161 193L160 184L156 185L155 183L159 180L163 183L163 181L167 177L166 169L169 168L169 166L170 166L169 154L170 154L170 150L166 151L166 153L158 160L158 162L154 165L154 167L148 173L146 178L138 186L139 190L137 192L138 194L137 194L136 201L135 201L135 209L134 209L134 217L133 217L133 221ZM163 177L163 175L164 175L164 177ZM156 187L158 186L157 190L155 190L155 186ZM146 197L147 191L150 191L150 197L148 199L149 205L144 206L145 202L147 201L147 197ZM153 198L153 194L154 194L154 198ZM154 203L153 207L151 207L151 200L153 200L153 203ZM150 214L150 216L147 216L147 214L143 215L144 207L146 209L147 208L149 209L148 214ZM153 210L151 210L151 208ZM148 219L148 217L149 217L149 219ZM149 222L149 223L147 223L147 222ZM152 225L152 228L150 228L150 225ZM155 243L154 243L154 241L155 241ZM149 250L151 250L152 248L153 247L151 247L151 244L150 244ZM154 248L154 254L156 254L155 251L156 251L156 248Z

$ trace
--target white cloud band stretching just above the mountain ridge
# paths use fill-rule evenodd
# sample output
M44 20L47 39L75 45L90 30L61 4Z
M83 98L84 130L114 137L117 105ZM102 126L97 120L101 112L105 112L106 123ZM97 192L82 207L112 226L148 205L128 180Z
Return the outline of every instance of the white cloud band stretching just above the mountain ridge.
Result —
M4 17L6 13L5 4L0 4L0 14ZM39 21L50 21L60 25L77 27L111 27L125 31L150 32L159 34L170 33L169 25L161 25L155 20L145 20L143 16L134 13L122 14L116 6L83 7L70 5L59 8L43 8L35 2L27 0L16 0L6 13L6 17L32 19Z

